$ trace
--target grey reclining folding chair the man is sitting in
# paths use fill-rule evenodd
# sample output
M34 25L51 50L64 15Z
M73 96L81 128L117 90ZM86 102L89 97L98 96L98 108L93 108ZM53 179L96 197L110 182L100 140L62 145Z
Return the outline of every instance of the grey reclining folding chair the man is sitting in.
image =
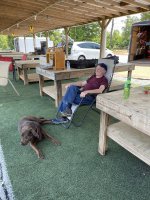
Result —
M104 90L104 92L108 92L109 88L110 88L110 85L111 85L111 82L112 82L114 70L115 70L115 62L114 62L114 60L111 60L111 59L99 59L98 63L105 63L107 65L107 72L105 74L105 77L108 80L108 87ZM81 101L80 101L80 103L78 105L76 105L76 104L72 105L72 107L71 107L71 109L72 109L72 115L71 115L71 117L67 117L67 119L68 119L67 123L62 123L62 125L65 128L69 128L70 125L71 125L71 123L73 123L77 127L81 126L83 124L83 121L85 120L87 114L89 113L89 111L91 110L91 108L93 108L93 105L95 105L95 103L96 103L96 96L95 96L95 98L93 99L92 103L90 105L86 105L87 106L87 110L86 110L86 112L83 113L83 116L82 116L80 122L76 123L74 121L76 112L78 111L78 109L81 106L85 106L84 104L82 104L83 99L84 98L81 99ZM56 117L57 118L59 117L59 112L57 112Z

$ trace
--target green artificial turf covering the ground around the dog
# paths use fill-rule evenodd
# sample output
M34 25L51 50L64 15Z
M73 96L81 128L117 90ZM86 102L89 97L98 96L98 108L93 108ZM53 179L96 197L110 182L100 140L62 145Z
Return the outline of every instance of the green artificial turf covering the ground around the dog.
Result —
M15 86L20 97L10 87L0 90L0 138L16 200L150 199L148 165L111 140L106 156L98 153L99 114L94 111L80 128L46 125L61 146L41 142L44 160L21 146L18 120L25 115L53 118L56 108L51 98L40 97L37 83L17 81Z

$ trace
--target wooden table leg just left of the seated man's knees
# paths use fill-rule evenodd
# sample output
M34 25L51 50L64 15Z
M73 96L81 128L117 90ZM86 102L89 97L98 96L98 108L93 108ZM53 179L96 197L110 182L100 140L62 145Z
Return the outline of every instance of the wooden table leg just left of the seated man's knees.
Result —
M62 84L61 80L54 81L54 87L56 90L56 99L55 99L55 106L58 107L61 99L62 99Z

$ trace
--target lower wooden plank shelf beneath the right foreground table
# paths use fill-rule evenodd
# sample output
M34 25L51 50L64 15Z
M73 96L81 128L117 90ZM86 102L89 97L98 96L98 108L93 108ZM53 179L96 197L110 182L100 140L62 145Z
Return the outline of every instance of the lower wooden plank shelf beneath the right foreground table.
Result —
M150 137L123 122L109 125L107 136L150 165Z

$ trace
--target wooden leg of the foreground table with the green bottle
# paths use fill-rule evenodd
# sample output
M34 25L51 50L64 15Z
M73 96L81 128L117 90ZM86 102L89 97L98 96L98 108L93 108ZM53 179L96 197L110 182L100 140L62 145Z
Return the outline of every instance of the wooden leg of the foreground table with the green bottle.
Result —
M98 152L101 155L105 155L105 151L106 151L108 118L109 118L109 115L101 111L100 130L99 130L99 147L98 147Z

